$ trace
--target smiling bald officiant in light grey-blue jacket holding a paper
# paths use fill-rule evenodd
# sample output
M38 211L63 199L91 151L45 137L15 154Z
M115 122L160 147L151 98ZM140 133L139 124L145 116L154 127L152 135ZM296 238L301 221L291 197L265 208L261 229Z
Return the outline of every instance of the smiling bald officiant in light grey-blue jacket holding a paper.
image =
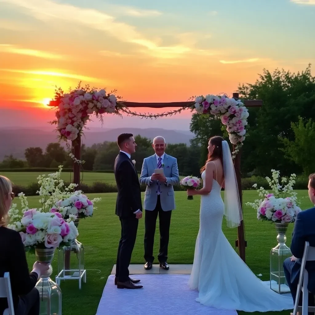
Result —
M157 215L160 222L160 251L157 256L160 267L168 270L167 250L169 244L169 226L172 210L175 209L173 185L179 183L177 160L165 154L166 143L163 137L155 137L152 147L155 151L143 160L140 183L146 185L144 197L145 236L144 236L144 268L152 268L153 242ZM155 169L161 169L162 174L155 174Z

